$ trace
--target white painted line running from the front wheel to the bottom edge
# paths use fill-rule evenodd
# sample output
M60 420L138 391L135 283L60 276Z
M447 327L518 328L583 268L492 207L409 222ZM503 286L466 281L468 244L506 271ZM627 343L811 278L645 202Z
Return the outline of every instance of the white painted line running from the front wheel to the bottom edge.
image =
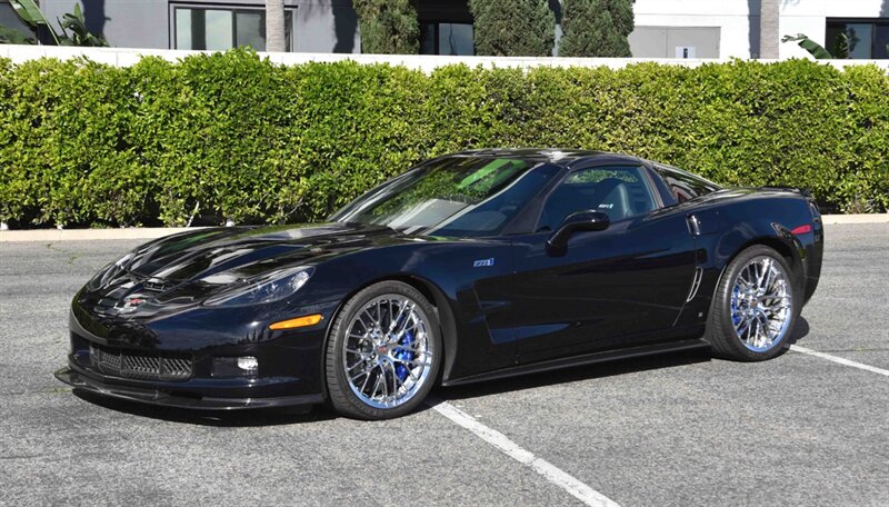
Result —
M543 476L548 481L565 489L571 496L591 507L620 507L615 500L592 489L575 477L568 475L556 465L539 458L533 453L519 447L509 437L496 429L491 429L469 414L460 410L447 401L428 401L433 410L452 420L459 426L472 431L477 437L497 447L510 458L531 467L532 470Z

